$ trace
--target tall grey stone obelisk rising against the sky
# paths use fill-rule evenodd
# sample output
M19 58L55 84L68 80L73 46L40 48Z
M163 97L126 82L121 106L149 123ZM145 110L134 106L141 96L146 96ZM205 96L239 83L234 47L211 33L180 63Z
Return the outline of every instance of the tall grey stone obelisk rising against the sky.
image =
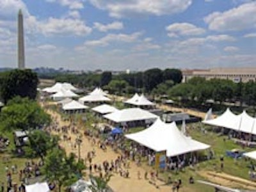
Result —
M18 13L18 67L20 69L25 68L23 15L21 10Z

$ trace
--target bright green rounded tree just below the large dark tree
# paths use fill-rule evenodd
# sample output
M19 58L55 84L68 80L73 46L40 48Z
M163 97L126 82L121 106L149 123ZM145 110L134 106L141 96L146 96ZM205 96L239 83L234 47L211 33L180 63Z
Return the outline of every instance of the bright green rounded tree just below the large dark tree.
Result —
M30 130L51 122L51 116L45 113L37 102L28 98L15 97L10 100L0 113L4 131Z

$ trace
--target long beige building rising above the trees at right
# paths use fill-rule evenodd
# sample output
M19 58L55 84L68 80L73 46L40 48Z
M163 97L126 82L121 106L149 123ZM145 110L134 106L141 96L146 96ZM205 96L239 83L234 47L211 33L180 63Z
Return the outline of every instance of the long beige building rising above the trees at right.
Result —
M193 77L204 77L205 79L229 79L235 83L256 81L256 67L243 68L210 68L182 70L182 82L186 82Z

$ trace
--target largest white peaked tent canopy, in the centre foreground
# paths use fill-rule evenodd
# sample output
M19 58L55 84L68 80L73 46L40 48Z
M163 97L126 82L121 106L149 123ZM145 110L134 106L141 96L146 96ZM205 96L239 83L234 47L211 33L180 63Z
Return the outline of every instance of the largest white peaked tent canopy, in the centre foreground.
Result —
M166 124L160 118L147 129L126 134L125 137L156 152L166 150L166 156L168 157L179 156L180 154L204 150L210 147L209 145L186 137L179 131L175 122Z

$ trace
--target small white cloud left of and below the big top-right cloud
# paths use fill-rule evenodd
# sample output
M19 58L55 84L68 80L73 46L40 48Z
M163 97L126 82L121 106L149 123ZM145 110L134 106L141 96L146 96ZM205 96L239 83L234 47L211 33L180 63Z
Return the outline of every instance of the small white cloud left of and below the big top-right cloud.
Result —
M186 35L186 36L193 36L193 35L202 35L205 33L205 29L198 28L194 26L193 24L182 22L182 23L174 23L170 26L166 27L166 30L168 31L168 36L175 37L179 35Z

